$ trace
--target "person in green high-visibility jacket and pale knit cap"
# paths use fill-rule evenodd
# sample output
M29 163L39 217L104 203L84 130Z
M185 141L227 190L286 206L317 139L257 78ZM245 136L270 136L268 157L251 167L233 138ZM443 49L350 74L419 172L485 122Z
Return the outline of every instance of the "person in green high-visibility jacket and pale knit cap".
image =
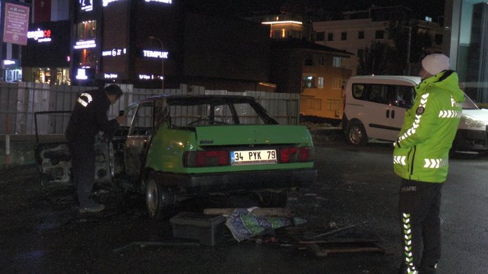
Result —
M394 142L394 170L402 178L398 208L406 273L435 273L441 256L441 187L464 101L449 65L443 54L423 58L414 105Z

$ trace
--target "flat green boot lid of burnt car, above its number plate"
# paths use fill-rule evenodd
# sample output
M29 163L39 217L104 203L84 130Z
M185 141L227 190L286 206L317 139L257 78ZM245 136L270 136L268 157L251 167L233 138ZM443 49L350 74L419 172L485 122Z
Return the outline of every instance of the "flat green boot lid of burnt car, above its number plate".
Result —
M195 130L196 142L201 146L242 144L307 144L312 146L312 137L305 126L199 126Z

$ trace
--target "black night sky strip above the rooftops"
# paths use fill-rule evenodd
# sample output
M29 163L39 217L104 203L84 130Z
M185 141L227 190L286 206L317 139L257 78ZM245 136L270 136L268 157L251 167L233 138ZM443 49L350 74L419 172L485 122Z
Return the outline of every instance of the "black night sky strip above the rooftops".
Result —
M252 11L269 10L278 12L287 4L299 10L305 3L307 6L323 8L337 12L346 10L363 10L371 4L376 6L406 6L419 14L418 18L430 16L437 18L444 15L445 0L185 0L209 12L230 17L245 17Z

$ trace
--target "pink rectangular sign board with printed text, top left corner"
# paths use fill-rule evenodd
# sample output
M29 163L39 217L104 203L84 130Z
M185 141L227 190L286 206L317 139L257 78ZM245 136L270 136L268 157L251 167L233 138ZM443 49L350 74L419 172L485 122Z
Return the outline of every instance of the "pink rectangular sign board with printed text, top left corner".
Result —
M27 44L27 28L30 8L27 6L5 3L3 18L3 42Z

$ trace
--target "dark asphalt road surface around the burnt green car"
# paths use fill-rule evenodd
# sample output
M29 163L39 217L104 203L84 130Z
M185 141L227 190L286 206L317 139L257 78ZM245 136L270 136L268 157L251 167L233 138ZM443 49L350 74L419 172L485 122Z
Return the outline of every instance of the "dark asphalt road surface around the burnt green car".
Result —
M288 200L294 215L308 223L295 232L276 230L275 242L268 242L270 235L240 243L226 237L217 246L186 246L188 240L172 237L169 222L148 219L139 196L110 185L96 188L107 209L82 215L74 188L40 188L35 166L0 171L0 273L397 273L399 179L391 154L391 146L381 143L354 148L337 140L317 146L317 182ZM488 157L456 157L450 164L439 273L486 273ZM246 202L242 197L199 200L183 209ZM317 256L296 241L353 225L326 239L367 239L381 252Z

